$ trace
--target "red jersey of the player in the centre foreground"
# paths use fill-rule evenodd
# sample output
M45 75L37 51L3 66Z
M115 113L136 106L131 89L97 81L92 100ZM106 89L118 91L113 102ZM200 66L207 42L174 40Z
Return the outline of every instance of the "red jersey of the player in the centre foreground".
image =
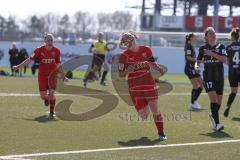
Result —
M124 71L129 66L136 66L138 62L149 61L152 58L152 51L149 47L139 46L137 52L131 50L126 50L119 57L119 70ZM155 86L155 81L150 73L150 67L142 67L136 69L133 72L128 73L128 85L129 88L134 88L138 86Z

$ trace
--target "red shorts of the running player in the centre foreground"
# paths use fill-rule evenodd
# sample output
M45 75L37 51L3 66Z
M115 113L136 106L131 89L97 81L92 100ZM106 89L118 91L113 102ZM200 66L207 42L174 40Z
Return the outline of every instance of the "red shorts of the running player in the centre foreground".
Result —
M158 99L158 90L155 85L131 87L129 93L137 111L146 107L149 101Z

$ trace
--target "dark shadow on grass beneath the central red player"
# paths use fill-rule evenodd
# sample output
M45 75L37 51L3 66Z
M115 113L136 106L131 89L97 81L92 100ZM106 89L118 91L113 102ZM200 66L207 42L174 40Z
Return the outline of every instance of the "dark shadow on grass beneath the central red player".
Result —
M159 139L150 140L148 137L141 137L140 139L129 140L127 142L118 141L121 146L150 146L161 142Z

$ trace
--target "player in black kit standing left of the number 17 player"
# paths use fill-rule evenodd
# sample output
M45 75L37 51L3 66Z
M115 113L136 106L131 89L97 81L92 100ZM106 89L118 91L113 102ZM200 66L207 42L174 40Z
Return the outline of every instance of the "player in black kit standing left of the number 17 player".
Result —
M197 99L202 92L203 82L199 73L195 71L194 64L196 62L196 52L194 44L196 43L196 36L193 33L186 35L185 41L185 68L184 72L192 83L193 89L191 94L190 109L200 109Z

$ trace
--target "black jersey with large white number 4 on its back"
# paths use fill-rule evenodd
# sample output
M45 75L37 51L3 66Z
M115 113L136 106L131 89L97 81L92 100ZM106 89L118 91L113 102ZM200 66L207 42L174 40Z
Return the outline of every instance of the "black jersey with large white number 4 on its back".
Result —
M240 69L240 42L232 42L226 48L229 70Z

